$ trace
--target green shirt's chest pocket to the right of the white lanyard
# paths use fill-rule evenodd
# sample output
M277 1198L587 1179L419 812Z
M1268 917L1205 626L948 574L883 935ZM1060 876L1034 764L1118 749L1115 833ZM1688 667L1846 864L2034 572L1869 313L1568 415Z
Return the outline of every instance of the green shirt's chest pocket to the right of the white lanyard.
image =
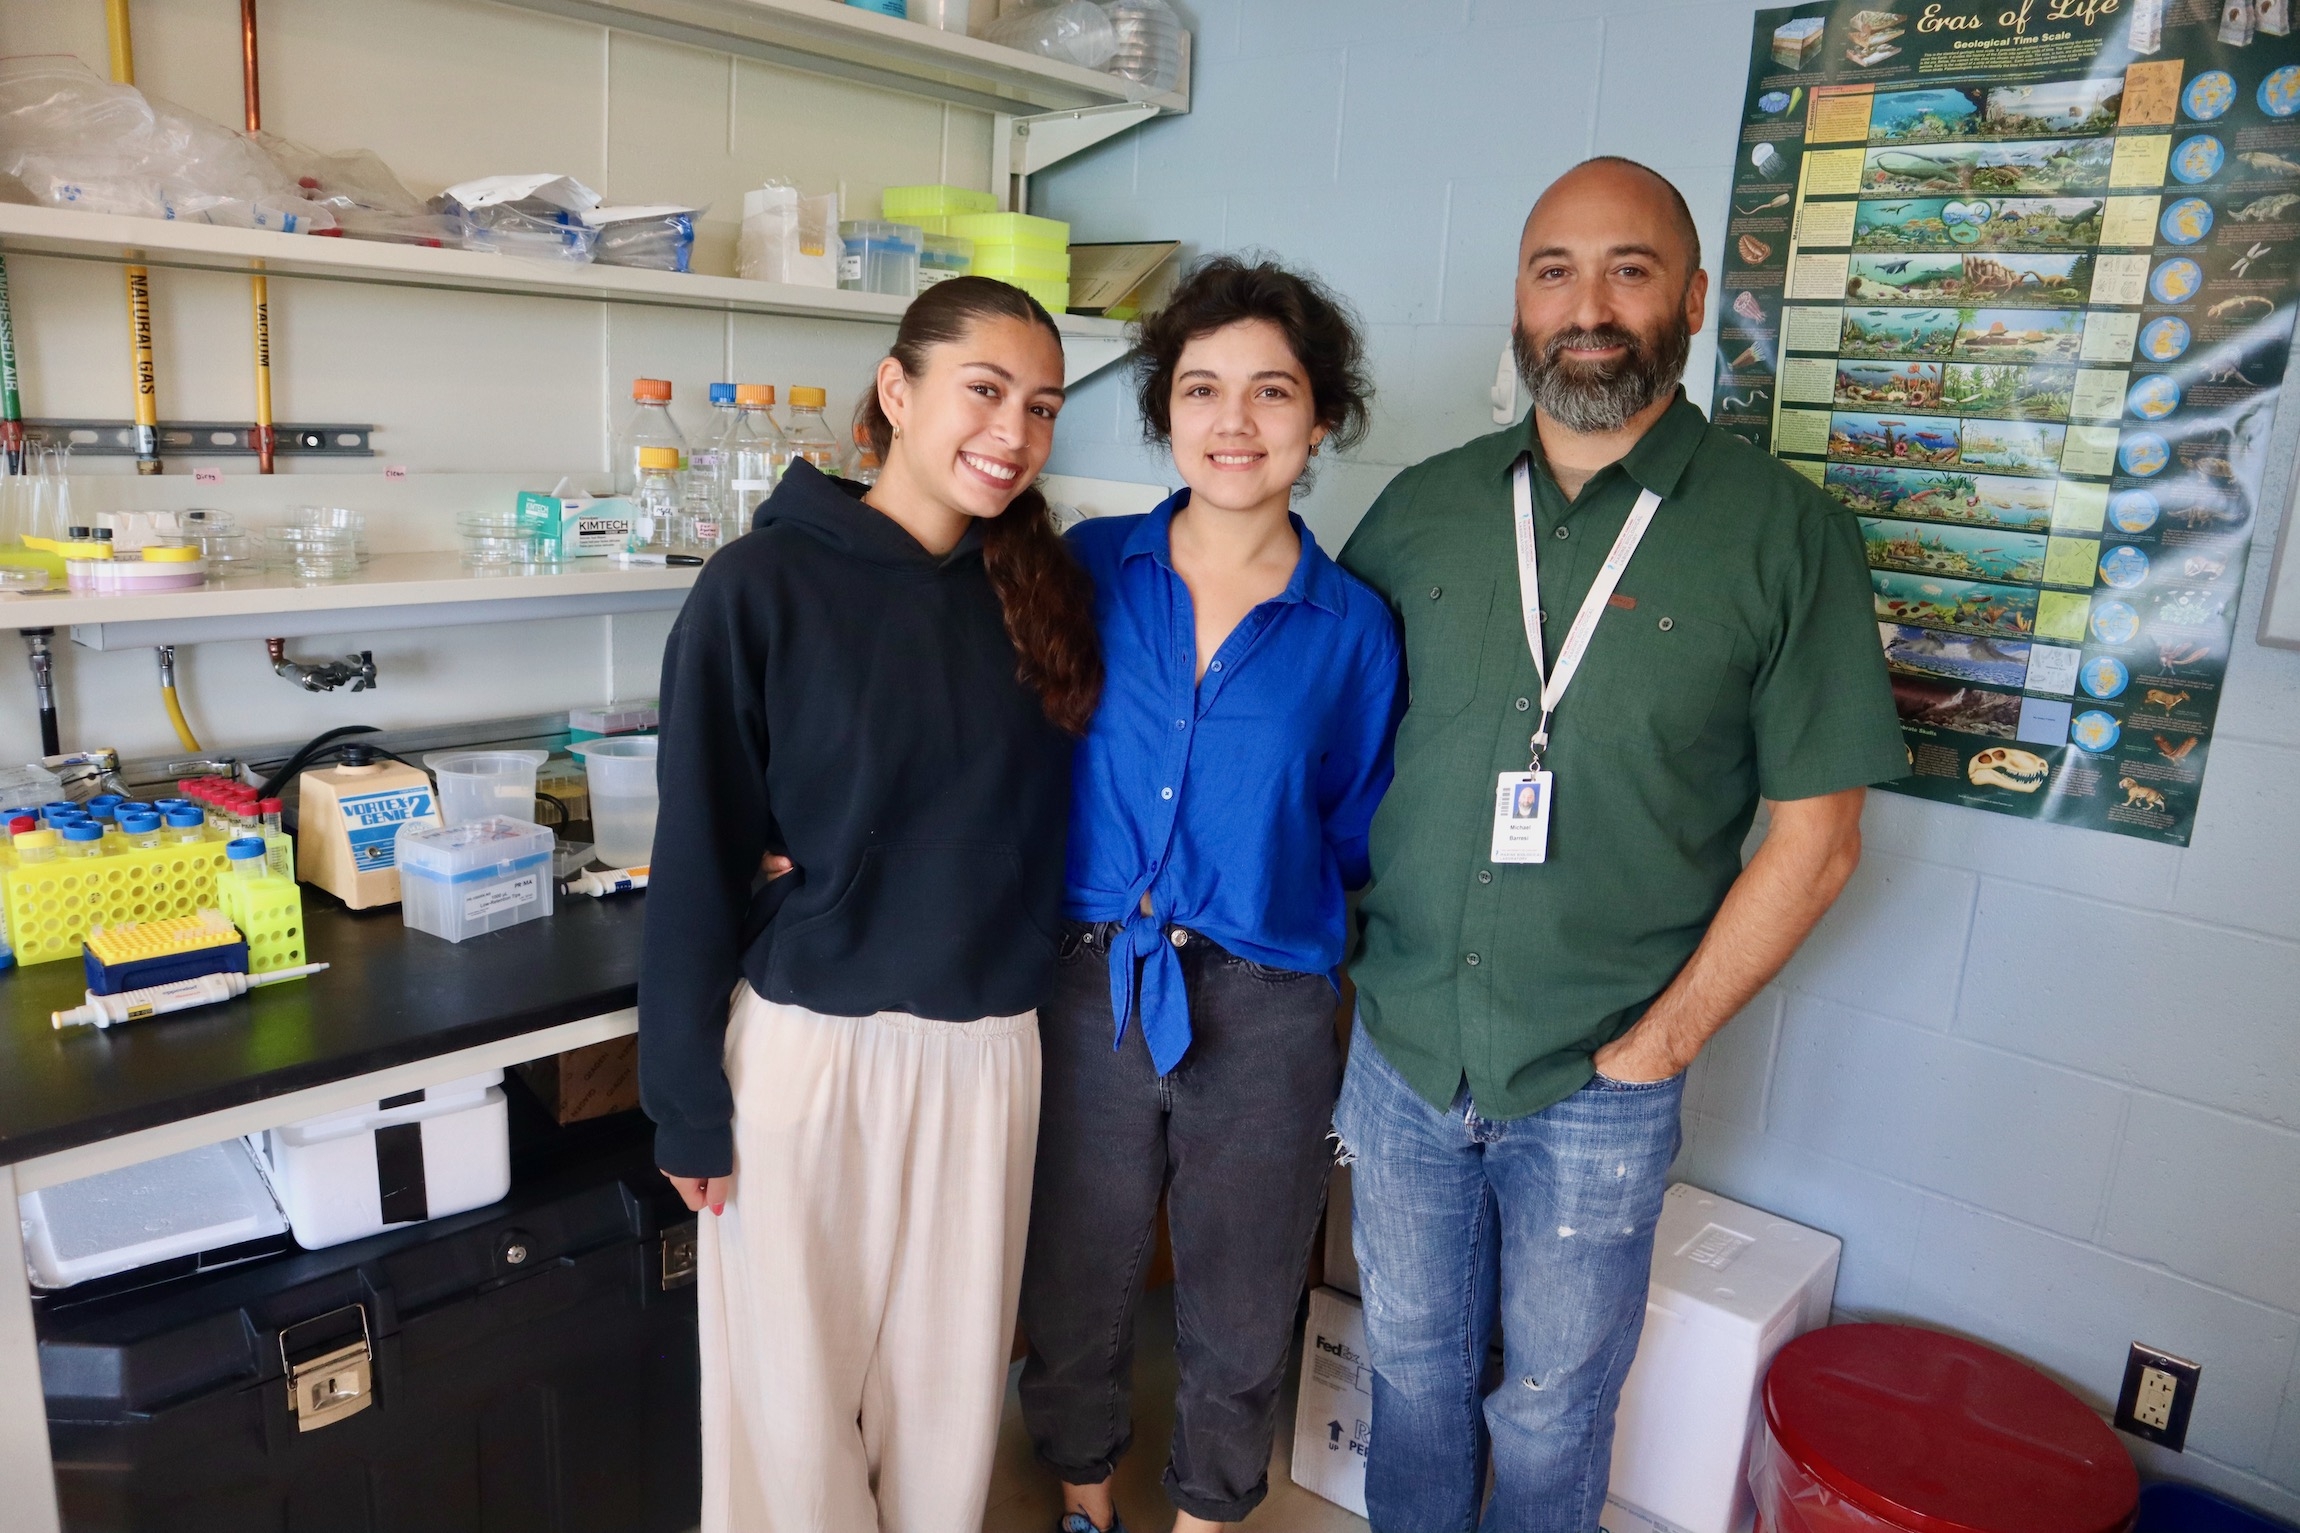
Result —
M1555 731L1605 745L1681 752L1700 740L1732 662L1732 630L1670 611L1608 611Z

